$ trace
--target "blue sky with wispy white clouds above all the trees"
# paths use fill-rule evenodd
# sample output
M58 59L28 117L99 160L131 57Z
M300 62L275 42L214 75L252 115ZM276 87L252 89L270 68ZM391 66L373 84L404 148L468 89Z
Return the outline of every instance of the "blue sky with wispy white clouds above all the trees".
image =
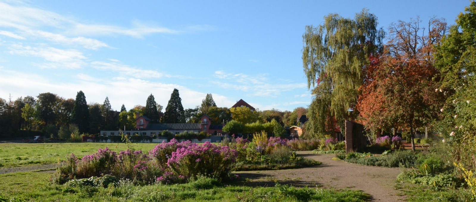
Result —
M129 110L174 88L184 108L207 93L219 107L243 99L292 111L311 101L302 34L329 13L362 8L391 22L454 20L468 0L128 1L0 0L0 97L56 93Z

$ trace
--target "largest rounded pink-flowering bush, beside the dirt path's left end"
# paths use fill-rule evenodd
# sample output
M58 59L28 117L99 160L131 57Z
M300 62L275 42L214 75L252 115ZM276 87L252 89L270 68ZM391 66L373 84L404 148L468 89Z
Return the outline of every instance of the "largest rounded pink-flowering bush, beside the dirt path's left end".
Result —
M226 178L235 162L237 152L209 141L203 145L191 143L172 152L167 164L175 175L196 178L205 175L216 179Z

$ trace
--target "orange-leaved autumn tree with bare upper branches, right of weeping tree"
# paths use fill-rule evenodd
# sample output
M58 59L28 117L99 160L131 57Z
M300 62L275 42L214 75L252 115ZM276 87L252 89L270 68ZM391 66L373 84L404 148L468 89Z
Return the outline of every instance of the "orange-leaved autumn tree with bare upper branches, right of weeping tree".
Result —
M435 92L440 78L434 66L434 46L445 34L446 22L432 18L428 27L417 18L389 27L390 40L379 56L370 56L359 88L359 121L368 129L407 128L415 150L414 129L438 115L443 92Z

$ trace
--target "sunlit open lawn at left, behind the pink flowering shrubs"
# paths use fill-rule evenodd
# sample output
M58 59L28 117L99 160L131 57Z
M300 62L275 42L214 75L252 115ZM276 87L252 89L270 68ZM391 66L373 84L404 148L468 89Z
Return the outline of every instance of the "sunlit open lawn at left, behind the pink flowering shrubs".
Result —
M136 150L148 152L157 143L131 143ZM66 160L71 153L82 157L97 152L98 148L119 152L127 150L125 143L4 143L0 144L0 167L50 164Z

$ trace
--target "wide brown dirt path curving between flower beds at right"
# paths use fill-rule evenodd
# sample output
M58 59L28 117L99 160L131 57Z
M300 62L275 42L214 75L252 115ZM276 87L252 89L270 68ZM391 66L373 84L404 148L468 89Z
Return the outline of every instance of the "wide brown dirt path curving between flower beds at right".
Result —
M372 195L372 201L396 202L404 200L397 196L394 184L399 168L385 168L351 164L332 160L335 154L313 154L310 151L297 152L300 156L322 162L310 168L280 171L237 172L240 177L249 178L257 186L274 186L274 181L294 186L320 186L362 190Z

